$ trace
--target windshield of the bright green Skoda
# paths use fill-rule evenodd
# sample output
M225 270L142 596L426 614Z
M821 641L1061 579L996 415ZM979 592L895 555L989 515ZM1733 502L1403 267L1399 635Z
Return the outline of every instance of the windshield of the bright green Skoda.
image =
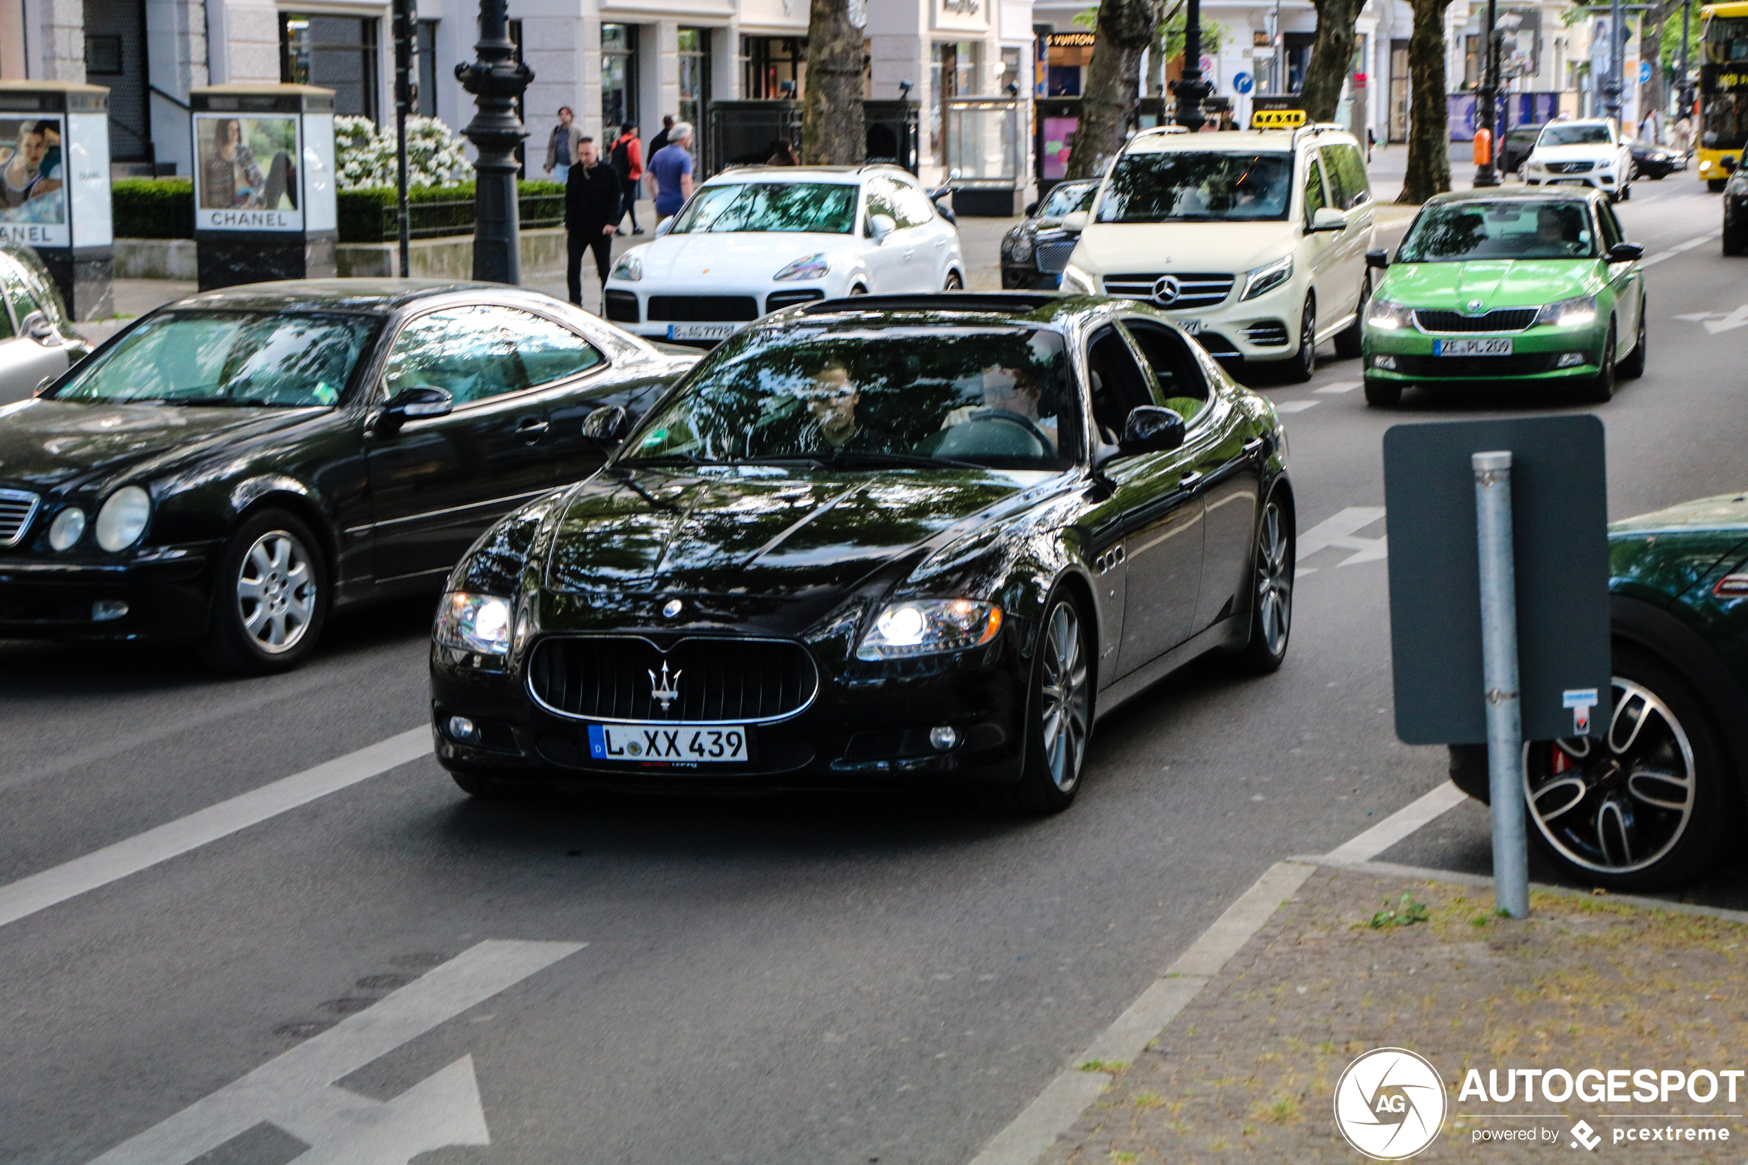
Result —
M1446 203L1428 206L1402 239L1398 262L1468 259L1589 259L1596 253L1584 203Z

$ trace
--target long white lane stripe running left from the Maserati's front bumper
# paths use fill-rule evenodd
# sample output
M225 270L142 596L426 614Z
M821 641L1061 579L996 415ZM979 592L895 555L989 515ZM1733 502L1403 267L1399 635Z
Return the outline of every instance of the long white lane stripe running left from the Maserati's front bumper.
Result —
M220 837L276 817L287 810L339 789L369 781L409 760L418 760L432 749L430 728L409 728L386 741L378 741L357 753L294 772L259 789L250 789L227 802L208 805L187 817L178 817L156 830L136 833L124 842L105 845L84 858L73 858L40 873L0 886L0 926L17 922L38 910L47 910L86 891L108 886L129 873L149 870L191 849L199 849Z

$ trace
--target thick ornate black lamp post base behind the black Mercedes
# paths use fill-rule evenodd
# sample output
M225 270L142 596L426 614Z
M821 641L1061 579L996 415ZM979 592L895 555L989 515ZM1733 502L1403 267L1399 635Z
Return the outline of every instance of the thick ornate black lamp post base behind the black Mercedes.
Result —
M510 42L509 0L479 0L475 59L454 66L456 80L474 94L474 121L461 134L474 143L474 278L521 283L523 260L516 222L516 147L528 136L516 117L516 100L535 79Z

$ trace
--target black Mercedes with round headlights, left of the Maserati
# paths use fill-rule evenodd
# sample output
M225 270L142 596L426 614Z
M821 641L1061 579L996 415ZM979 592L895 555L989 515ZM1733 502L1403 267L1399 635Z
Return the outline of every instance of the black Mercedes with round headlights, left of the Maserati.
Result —
M208 292L0 409L0 636L198 641L280 671L600 468L584 417L697 355L498 285Z

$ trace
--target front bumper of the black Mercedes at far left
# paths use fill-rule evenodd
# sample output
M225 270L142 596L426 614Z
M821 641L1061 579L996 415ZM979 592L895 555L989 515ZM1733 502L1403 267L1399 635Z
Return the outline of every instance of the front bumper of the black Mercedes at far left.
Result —
M199 638L212 594L208 566L218 545L154 547L122 562L0 557L0 636Z

